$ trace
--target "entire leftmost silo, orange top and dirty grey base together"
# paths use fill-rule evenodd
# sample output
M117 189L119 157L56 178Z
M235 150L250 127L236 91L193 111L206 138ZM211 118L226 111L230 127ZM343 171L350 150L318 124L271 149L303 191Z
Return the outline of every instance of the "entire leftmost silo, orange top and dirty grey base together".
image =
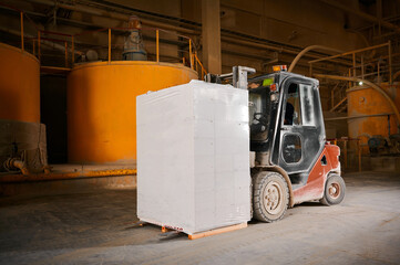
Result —
M32 54L0 43L0 171L47 166L40 124L40 64Z

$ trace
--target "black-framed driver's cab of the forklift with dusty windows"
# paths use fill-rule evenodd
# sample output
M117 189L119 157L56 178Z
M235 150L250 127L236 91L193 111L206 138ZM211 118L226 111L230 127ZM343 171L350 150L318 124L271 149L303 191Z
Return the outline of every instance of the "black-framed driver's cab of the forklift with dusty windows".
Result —
M256 163L309 171L325 146L318 81L278 72L248 80L248 91L250 151L268 157Z

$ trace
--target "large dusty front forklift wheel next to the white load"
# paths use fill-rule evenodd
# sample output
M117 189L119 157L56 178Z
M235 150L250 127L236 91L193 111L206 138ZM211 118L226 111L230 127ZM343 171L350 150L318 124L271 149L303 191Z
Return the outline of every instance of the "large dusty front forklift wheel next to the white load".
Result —
M277 172L261 171L253 178L253 216L271 223L284 218L289 204L289 189Z

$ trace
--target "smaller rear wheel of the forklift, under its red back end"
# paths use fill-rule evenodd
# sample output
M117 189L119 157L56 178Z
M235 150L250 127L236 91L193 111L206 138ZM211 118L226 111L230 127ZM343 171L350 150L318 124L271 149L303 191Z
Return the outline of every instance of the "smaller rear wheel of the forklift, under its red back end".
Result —
M325 205L339 204L345 199L345 180L339 174L332 174L325 183L324 198L320 202Z

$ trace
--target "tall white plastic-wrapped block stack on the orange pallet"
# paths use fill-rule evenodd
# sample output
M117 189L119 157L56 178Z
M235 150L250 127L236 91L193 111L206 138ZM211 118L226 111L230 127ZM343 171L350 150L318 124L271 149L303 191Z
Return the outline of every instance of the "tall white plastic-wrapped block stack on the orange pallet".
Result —
M136 106L139 219L187 234L249 221L248 92L192 81Z

